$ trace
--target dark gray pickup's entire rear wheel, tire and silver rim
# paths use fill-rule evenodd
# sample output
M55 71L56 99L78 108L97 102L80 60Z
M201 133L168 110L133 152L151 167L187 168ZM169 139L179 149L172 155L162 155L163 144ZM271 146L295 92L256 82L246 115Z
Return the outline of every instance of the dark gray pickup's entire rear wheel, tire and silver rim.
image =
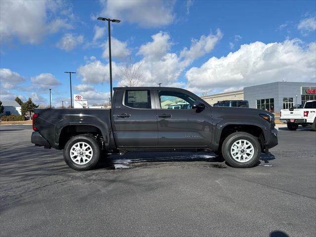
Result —
M74 170L89 170L95 167L101 150L98 142L91 136L72 137L65 145L65 162Z

